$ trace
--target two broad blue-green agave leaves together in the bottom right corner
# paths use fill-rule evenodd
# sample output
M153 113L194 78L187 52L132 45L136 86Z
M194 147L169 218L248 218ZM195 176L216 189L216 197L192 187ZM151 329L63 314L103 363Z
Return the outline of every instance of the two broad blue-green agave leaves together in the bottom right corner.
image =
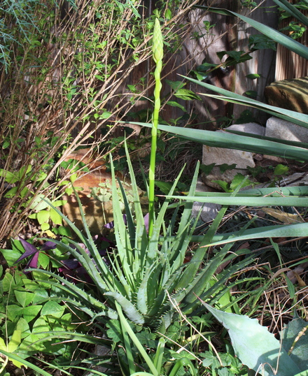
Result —
M281 340L277 340L256 319L204 305L228 329L235 354L248 368L265 376L293 376L307 372L306 321L295 317L281 331Z

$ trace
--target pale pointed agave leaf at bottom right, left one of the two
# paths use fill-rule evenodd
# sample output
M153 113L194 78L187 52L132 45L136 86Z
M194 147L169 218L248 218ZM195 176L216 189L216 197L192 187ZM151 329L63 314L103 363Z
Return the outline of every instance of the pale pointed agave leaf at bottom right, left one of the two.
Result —
M283 343L261 326L257 319L223 312L202 302L228 330L235 354L242 363L264 376L294 376L300 373L297 363L288 356Z

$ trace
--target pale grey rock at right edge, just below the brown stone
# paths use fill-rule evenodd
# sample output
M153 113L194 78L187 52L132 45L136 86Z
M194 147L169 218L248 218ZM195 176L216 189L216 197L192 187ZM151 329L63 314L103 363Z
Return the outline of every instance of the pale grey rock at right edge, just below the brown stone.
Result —
M274 116L267 120L265 136L308 143L307 128Z

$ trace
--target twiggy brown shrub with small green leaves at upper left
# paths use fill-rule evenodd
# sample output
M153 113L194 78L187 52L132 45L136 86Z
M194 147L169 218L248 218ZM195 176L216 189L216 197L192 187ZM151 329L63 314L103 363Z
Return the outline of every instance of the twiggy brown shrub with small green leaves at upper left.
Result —
M28 173L20 173L12 184L5 176L0 180L2 246L25 226L34 196L55 191L59 182L52 182L52 177L62 160L76 147L97 147L104 141L99 128L132 109L132 94L125 93L127 79L151 57L151 28L145 16L137 20L137 27L130 22L132 8L125 8L119 17L113 2L78 0L76 4L78 12L65 13L63 4L57 8L44 1L33 15L41 22L39 35L33 28L34 41L20 38L13 43L9 70L0 71L0 168L16 174L29 166ZM189 32L189 24L182 29L178 25L192 6L183 2L163 25L168 43ZM121 40L124 30L132 31L125 41ZM148 94L151 85L139 97ZM15 194L7 197L13 187Z

